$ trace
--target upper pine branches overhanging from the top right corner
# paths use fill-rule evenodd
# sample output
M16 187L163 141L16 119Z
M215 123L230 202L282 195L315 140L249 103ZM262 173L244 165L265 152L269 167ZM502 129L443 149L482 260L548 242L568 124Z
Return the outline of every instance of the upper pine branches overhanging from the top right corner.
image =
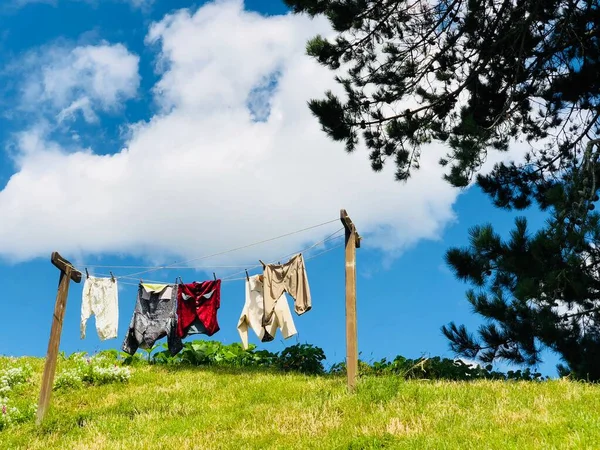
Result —
M425 143L445 142L446 178L466 186L487 152L525 139L523 164L500 164L477 182L501 207L544 201L557 174L580 160L600 129L598 0L285 0L324 15L337 36L308 54L345 92L309 107L371 165L390 158L396 178L418 168Z

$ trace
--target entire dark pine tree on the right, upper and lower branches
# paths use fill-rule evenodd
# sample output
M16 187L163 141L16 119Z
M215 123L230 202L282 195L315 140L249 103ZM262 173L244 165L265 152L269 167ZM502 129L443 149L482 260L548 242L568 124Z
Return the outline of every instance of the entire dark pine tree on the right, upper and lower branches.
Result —
M548 212L503 241L490 225L447 261L472 283L490 321L478 336L443 327L459 354L536 364L550 348L563 372L600 379L600 5L598 0L285 0L324 15L337 34L307 52L336 73L343 96L309 101L348 152L361 141L379 171L418 169L423 145L444 142L445 178L474 177L496 206ZM479 173L488 151L525 140L522 163ZM598 181L597 181L598 180Z

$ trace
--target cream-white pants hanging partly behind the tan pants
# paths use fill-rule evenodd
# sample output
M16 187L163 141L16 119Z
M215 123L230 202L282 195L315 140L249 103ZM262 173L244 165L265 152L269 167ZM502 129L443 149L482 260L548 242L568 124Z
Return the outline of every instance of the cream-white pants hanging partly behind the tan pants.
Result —
M281 329L281 334L285 339L297 333L285 293L275 301L271 322L266 327L262 326L265 311L264 288L258 277L258 275L253 275L246 280L246 302L237 326L245 349L248 348L248 327L254 330L261 341L265 338L265 332L271 336L269 340L272 340L278 328Z

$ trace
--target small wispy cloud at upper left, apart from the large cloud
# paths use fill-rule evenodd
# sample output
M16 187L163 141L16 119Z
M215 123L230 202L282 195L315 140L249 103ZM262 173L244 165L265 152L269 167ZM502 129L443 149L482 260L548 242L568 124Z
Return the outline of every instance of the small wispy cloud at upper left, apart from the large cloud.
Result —
M138 65L139 57L121 44L46 47L20 62L25 76L20 107L60 122L81 112L94 122L95 111L113 111L136 95Z

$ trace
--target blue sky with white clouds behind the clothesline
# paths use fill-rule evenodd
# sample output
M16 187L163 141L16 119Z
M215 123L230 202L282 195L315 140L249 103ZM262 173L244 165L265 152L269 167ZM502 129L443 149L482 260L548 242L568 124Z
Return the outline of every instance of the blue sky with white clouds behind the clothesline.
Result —
M141 276L236 278L341 224L198 258L336 219L340 208L364 236L363 359L452 357L441 325L475 330L467 286L445 267L444 252L466 244L468 229L482 222L506 236L515 214L493 208L476 188L460 193L444 183L441 145L425 149L423 170L402 185L392 170L372 173L365 151L347 155L329 142L306 101L337 87L304 56L304 44L331 30L322 19L284 14L281 2L258 0L21 0L0 10L0 354L45 354L58 281L53 250L96 275L195 259L202 269ZM534 228L544 220L528 217ZM331 249L307 262L313 310L295 316L298 337L260 347L308 342L331 363L344 359L340 243L306 255ZM103 342L93 318L79 338L83 283L72 284L61 350L120 347L135 283L121 279L119 337ZM243 281L224 283L213 339L239 341L243 303ZM554 374L556 362L547 355L541 369Z

